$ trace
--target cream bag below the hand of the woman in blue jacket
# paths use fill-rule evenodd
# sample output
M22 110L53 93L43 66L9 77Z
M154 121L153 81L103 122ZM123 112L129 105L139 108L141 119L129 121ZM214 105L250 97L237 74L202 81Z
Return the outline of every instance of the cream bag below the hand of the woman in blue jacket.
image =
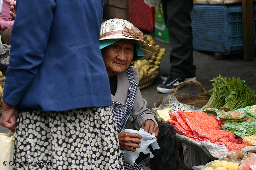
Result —
M10 162L13 161L14 151L14 134L11 133L0 133L0 169L1 170L12 170Z

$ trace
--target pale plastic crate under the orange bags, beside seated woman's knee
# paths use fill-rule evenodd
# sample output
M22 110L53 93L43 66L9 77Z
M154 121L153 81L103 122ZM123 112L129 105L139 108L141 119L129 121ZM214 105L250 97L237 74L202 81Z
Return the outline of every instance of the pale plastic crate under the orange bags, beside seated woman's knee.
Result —
M213 161L209 158L204 151L201 151L190 144L182 143L184 164L192 169L192 166L206 165L208 162Z

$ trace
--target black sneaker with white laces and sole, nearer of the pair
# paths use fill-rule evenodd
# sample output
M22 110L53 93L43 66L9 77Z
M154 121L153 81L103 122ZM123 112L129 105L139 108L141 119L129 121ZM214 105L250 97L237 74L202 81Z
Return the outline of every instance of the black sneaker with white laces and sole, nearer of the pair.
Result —
M156 90L161 93L170 93L173 92L173 85L178 85L180 82L182 80L179 77L170 73L164 82L157 86Z

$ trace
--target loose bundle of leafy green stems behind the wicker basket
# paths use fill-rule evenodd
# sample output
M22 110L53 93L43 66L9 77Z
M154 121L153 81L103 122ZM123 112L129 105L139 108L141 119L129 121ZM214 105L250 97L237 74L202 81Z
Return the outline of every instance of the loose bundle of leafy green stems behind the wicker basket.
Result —
M233 111L253 105L256 95L244 80L219 75L211 81L214 81L213 88L209 91L211 97L202 110L209 107L227 107Z

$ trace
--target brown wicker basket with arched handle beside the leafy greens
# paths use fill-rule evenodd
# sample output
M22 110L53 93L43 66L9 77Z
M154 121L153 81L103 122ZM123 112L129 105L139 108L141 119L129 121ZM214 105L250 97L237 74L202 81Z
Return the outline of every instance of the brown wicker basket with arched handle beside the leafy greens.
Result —
M182 87L183 85L187 85L187 84L195 84L195 85L199 86L200 89L202 90L202 93L199 93L197 95L192 95L192 96L189 96L188 94L183 93L183 94L181 94L180 97L178 97L177 92L178 92L179 88ZM180 103L184 103L184 104L188 104L191 106L201 108L207 104L207 102L209 101L209 99L211 97L211 95L204 89L204 87L202 86L202 84L199 81L184 81L175 86L176 87L174 88L173 95L179 100Z

